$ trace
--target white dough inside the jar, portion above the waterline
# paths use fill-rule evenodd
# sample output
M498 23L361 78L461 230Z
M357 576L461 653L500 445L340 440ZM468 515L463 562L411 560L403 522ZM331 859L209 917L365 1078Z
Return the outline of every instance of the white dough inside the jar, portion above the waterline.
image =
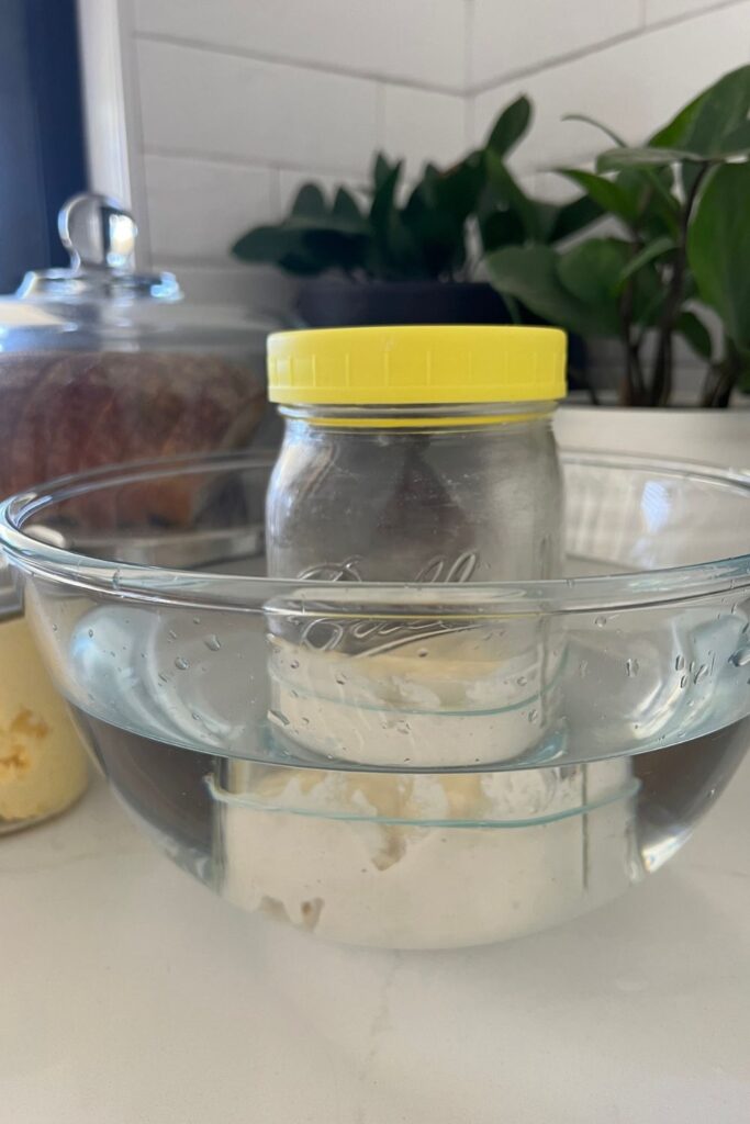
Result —
M363 765L510 761L546 733L560 663L535 626L514 628L356 656L271 636L269 717L306 750Z

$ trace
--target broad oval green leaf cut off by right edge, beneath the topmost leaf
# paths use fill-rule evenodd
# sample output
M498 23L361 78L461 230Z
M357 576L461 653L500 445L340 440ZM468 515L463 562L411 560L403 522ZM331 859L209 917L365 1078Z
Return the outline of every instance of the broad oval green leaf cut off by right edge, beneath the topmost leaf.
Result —
M711 174L687 254L702 299L716 309L730 339L750 347L750 163L725 164Z

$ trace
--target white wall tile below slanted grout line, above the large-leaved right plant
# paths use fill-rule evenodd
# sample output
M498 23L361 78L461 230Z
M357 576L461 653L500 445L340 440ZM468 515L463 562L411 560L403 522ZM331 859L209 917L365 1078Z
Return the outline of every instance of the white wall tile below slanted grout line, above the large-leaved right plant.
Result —
M750 0L743 0L478 94L475 139L506 102L524 92L536 116L513 155L514 165L531 171L587 160L607 140L588 125L563 121L563 115L589 114L635 143L749 58Z

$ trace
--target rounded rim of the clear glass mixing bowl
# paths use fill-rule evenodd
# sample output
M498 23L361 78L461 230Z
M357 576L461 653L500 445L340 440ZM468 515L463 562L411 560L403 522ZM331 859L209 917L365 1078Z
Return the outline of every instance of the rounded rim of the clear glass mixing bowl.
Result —
M713 486L731 487L750 500L750 472L703 465L690 461L625 453L603 453L572 447L560 452L564 463L603 468L652 470L662 474L690 478ZM154 601L204 609L262 611L269 598L289 599L295 595L297 610L315 607L322 598L341 601L346 592L342 616L374 610L374 615L414 615L415 598L421 607L448 616L526 616L528 614L606 613L627 608L657 607L675 601L695 601L722 593L750 589L750 553L710 562L668 566L641 572L623 572L580 578L552 578L535 581L443 582L356 582L341 583L309 579L257 578L227 573L107 561L33 537L22 529L29 518L54 504L85 492L135 483L159 475L170 479L184 473L220 472L243 466L270 470L275 453L244 450L229 453L182 454L164 459L134 461L128 464L58 477L10 496L0 504L0 547L6 559L26 575L89 590L118 600ZM386 614L385 609L390 611ZM394 613L394 610L396 610ZM334 605L335 615L335 605Z

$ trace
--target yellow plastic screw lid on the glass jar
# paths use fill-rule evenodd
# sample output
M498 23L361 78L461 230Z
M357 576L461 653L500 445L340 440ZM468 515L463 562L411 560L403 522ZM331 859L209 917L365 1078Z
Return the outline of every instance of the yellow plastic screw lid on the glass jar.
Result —
M327 406L532 402L564 398L559 328L418 325L269 336L269 398Z

